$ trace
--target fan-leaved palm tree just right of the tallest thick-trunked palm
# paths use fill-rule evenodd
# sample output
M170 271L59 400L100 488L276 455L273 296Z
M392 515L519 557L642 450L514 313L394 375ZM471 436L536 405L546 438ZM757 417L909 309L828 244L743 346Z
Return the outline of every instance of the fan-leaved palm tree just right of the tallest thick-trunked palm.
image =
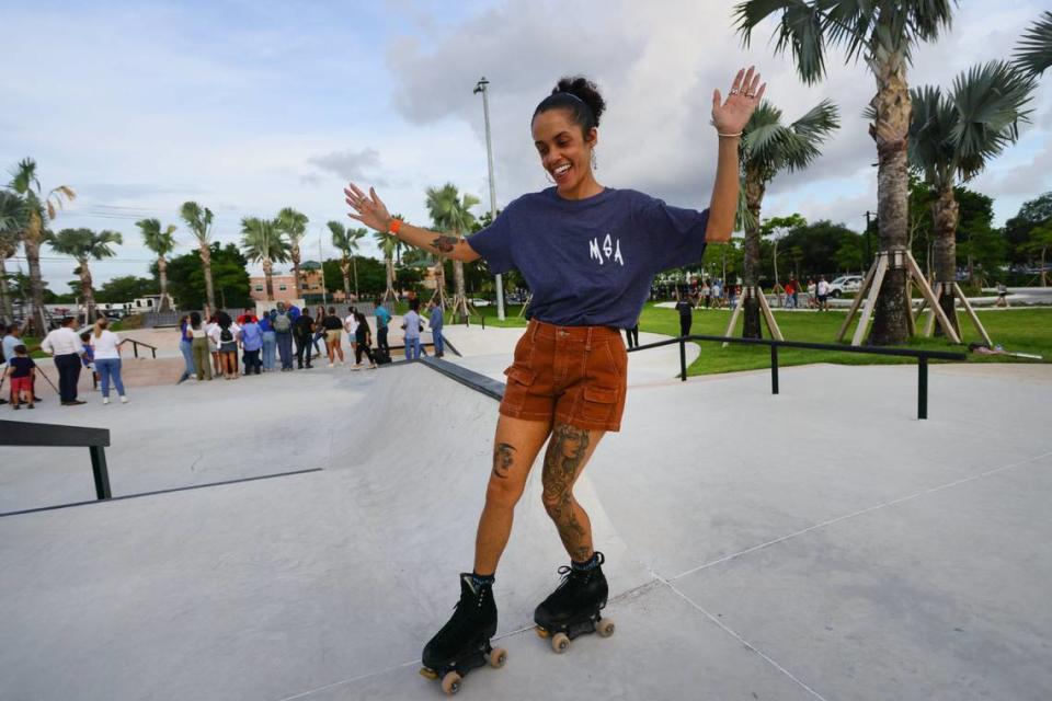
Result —
M935 279L944 283L939 306L960 331L953 301L957 280L958 204L953 187L967 183L991 159L1019 138L1019 122L1036 80L1007 61L973 66L953 80L953 91L925 85L910 91L910 164L938 194L935 221Z

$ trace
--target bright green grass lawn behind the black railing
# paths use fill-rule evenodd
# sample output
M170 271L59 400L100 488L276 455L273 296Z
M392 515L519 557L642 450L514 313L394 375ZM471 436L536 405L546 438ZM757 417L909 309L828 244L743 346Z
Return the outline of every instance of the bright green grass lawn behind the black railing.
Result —
M484 317L488 326L525 326L526 320L518 315L521 309L518 306L508 307L505 314L506 319L503 322L496 319L496 307L480 307L478 312ZM782 336L787 341L834 343L836 332L844 323L844 314L843 311L819 313L776 310L775 320L781 327ZM1036 354L1042 356L1045 363L1052 361L1052 309L998 309L979 311L977 314L980 321L986 327L986 333L990 334L995 344L1002 345L1005 350ZM701 335L722 336L727 332L727 324L730 319L731 312L728 310L695 310L694 325L690 331ZM474 318L471 323L479 323L479 321L478 318ZM856 324L857 321L848 329L847 338L850 338L854 334ZM1008 356L981 356L968 353L967 344L981 341L981 338L964 313L960 313L960 324L964 336L964 346L954 346L942 338L915 336L910 344L903 347L967 353L970 363L1034 363L1034 360ZM923 326L923 323L919 325ZM673 309L658 308L653 303L648 303L643 308L639 329L644 332L677 336L679 335L679 315ZM741 333L742 321L740 319L732 335L740 336ZM764 326L764 336L769 337L766 325ZM770 350L766 346L732 344L723 348L720 343L699 343L698 345L701 347L701 355L687 368L688 375L714 375L770 367ZM645 353L645 350L642 353ZM835 350L778 349L778 364L782 367L807 365L809 363L892 365L915 364L916 360L914 358L837 353Z

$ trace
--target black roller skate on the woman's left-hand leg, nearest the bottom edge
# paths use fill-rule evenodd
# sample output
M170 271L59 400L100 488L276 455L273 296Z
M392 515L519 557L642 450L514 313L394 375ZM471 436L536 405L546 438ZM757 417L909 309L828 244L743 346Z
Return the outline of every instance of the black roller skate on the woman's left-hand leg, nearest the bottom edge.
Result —
M460 690L460 680L476 667L487 664L495 668L504 666L507 652L490 645L495 633L493 585L476 587L470 574L461 574L460 601L453 618L424 647L424 666L420 674L428 679L441 679L443 691L450 696L456 693Z

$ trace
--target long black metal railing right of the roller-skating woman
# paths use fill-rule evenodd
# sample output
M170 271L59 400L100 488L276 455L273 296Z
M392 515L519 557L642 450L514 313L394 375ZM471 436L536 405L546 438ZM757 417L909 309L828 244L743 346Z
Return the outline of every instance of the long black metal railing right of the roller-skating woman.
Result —
M674 343L679 344L679 379L687 381L687 342L713 341L717 343L740 343L742 345L770 346L770 393L778 393L778 348L802 348L805 350L835 350L837 353L864 353L869 355L899 356L917 359L917 418L928 417L928 360L964 360L963 353L948 350L917 350L914 348L888 348L883 346L844 346L830 343L807 343L803 341L775 341L768 338L735 338L733 336L709 336L691 334L667 341L648 343L629 348L629 353L660 348Z

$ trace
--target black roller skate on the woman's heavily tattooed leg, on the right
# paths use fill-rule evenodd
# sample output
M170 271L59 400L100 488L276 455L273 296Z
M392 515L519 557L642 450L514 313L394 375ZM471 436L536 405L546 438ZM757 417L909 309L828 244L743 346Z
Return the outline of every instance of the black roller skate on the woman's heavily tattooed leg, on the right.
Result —
M551 648L563 653L570 641L584 633L598 631L603 637L614 634L614 621L604 619L599 611L606 607L609 589L603 576L603 553L595 553L596 565L591 570L559 567L562 583L534 611L537 634L551 639Z

